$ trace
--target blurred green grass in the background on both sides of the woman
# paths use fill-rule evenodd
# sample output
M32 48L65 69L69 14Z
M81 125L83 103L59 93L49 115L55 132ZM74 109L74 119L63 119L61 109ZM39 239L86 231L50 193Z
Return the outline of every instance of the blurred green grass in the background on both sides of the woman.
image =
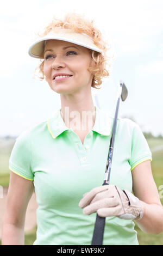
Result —
M147 139L149 147L152 149L158 145L163 144L163 139ZM2 153L0 150L0 185L7 187L9 185L9 169L8 169L8 160L9 155L12 150L12 145L10 147L6 147ZM2 157L3 155L3 157ZM155 180L156 187L159 191L159 186L163 185L163 150L154 152L152 154L152 172ZM163 193L162 193L163 197ZM163 205L163 198L160 198L161 203ZM163 232L159 235L152 235L143 233L140 228L137 226L135 222L135 230L137 231L137 237L140 245L163 245ZM25 234L25 245L33 245L33 242L36 239L36 227L30 231L30 233ZM1 242L1 241L0 241Z

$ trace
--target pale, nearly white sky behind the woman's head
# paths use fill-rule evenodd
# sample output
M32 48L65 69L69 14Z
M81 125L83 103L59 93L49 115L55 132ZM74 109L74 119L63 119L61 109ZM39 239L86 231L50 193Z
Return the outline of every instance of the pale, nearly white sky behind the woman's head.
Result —
M60 95L33 78L39 59L28 55L36 33L55 15L69 11L95 21L112 46L116 60L98 94L100 107L114 116L118 82L128 88L119 117L133 117L142 131L163 136L163 1L162 0L5 0L1 1L0 137L18 136L52 117Z

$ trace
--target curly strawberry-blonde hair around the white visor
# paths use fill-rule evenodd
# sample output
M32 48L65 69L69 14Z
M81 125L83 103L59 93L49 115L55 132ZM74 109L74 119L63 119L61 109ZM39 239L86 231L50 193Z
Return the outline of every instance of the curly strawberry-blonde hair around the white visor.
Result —
M56 19L53 16L52 22L45 27L42 34L37 33L40 37L47 35L51 31L55 31L58 28L61 29L70 29L72 32L76 33L85 33L93 39L93 42L97 47L101 48L104 54L91 51L92 63L88 70L93 74L91 87L96 89L101 89L102 78L110 76L111 65L114 60L114 54L109 57L106 55L106 52L111 49L111 46L103 40L102 33L94 25L93 20L89 21L84 16L76 13L68 13L65 15L64 20ZM108 46L108 47L106 47ZM45 78L43 72L43 65L45 60L40 59L39 66L35 69L34 78L39 77L42 81ZM108 65L108 69L106 66ZM37 71L37 75L36 75Z

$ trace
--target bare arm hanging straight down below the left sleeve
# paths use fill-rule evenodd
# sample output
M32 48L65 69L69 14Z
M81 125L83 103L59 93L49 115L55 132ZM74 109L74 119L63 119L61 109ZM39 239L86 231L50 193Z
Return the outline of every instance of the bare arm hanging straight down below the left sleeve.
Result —
M33 191L33 181L10 172L7 207L2 228L2 245L24 245L26 210Z

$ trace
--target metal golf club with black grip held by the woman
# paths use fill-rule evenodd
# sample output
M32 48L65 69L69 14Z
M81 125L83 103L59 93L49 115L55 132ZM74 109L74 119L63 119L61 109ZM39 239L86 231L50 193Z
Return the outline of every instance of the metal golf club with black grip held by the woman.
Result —
M115 141L115 133L116 133L118 109L119 109L119 105L120 105L120 97L121 97L122 101L125 101L126 98L127 98L127 95L128 95L128 90L127 90L125 84L123 83L123 81L120 81L120 88L118 90L118 100L117 100L117 105L116 105L114 124L112 126L109 153L108 153L108 159L107 159L107 162L106 162L106 169L105 169L103 186L108 185L109 180L110 180L112 154L113 154L114 141ZM96 98L95 98L95 100L96 100ZM100 217L97 214L91 245L102 245L103 244L104 228L105 228L105 218Z

